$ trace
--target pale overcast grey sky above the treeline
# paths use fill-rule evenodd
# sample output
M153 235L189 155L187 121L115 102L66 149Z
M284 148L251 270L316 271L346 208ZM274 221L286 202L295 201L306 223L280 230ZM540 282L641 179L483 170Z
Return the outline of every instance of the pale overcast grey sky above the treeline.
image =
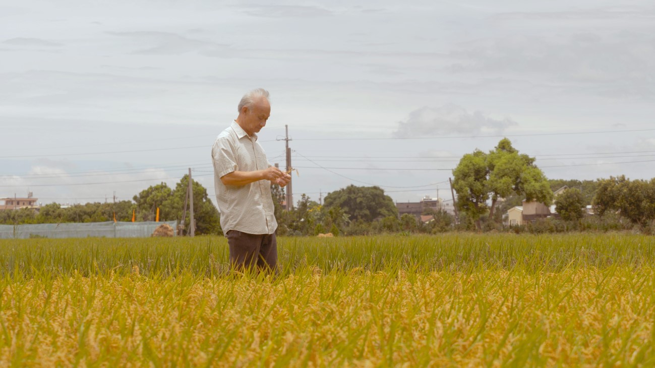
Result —
M0 197L130 200L210 151L241 96L294 200L378 185L450 198L507 137L550 179L655 168L655 3L0 0Z

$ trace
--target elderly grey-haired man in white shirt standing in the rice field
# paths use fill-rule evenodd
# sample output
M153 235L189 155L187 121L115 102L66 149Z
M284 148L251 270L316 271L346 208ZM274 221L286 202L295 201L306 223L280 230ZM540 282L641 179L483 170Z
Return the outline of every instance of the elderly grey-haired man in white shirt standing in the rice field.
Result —
M281 187L291 175L272 166L257 142L257 133L271 115L269 92L262 88L245 94L239 115L219 134L212 147L214 187L227 236L230 263L244 270L254 267L275 271L278 261L271 183Z

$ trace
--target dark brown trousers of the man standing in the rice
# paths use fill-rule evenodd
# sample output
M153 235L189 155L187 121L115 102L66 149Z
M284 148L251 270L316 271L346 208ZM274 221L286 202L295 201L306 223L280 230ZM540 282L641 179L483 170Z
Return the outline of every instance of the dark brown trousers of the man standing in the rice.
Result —
M248 234L238 230L227 232L230 265L242 271L257 266L259 270L277 272L278 242L275 234Z

